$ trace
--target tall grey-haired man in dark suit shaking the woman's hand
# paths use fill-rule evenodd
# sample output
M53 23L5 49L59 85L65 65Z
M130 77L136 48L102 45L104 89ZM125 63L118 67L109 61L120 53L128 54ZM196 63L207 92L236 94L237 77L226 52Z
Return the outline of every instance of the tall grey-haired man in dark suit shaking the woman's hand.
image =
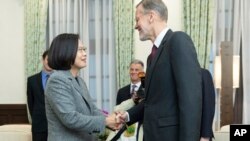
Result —
M202 79L194 44L167 27L161 0L142 0L135 15L140 40L151 40L156 49L148 56L145 100L117 118L128 124L143 120L145 141L198 141Z

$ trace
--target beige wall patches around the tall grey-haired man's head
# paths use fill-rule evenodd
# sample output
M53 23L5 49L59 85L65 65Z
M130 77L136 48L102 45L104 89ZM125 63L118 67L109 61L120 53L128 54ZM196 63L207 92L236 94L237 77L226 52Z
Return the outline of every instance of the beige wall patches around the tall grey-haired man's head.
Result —
M137 5L141 0L135 0ZM168 26L173 31L181 30L181 0L163 0L168 8ZM135 58L140 59L146 65L147 56L151 52L150 41L140 41L138 31L135 31Z

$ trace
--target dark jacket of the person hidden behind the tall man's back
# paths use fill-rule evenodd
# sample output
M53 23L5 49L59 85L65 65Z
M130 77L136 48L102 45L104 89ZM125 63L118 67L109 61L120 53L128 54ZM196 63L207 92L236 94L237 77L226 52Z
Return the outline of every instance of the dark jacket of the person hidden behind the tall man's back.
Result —
M215 112L215 88L210 72L202 69L202 118L201 137L212 138Z

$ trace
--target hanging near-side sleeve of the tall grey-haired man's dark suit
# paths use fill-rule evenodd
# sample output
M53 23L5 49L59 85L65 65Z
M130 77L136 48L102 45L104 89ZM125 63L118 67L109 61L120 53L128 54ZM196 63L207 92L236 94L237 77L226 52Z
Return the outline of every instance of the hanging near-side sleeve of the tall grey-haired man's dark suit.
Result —
M191 38L175 32L170 40L170 60L177 87L179 140L200 138L202 114L201 69Z

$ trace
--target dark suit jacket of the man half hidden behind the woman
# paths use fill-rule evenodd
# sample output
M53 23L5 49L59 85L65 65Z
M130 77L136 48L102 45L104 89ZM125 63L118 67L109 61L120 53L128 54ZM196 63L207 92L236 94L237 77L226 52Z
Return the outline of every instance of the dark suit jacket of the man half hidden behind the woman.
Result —
M32 132L47 132L47 118L45 114L44 90L42 73L28 77L27 101L32 119Z

